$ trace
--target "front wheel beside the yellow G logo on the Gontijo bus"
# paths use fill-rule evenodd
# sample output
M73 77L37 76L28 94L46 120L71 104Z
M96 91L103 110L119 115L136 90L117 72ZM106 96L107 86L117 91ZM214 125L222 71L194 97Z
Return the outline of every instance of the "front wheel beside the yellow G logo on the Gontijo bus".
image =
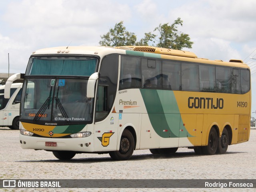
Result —
M118 151L109 152L113 160L128 160L134 151L134 138L132 133L125 129L120 140L120 148Z

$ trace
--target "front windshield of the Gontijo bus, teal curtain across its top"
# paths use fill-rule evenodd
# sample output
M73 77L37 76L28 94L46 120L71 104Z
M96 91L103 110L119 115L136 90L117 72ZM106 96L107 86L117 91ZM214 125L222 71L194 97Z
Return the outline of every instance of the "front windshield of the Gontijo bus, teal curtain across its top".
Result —
M91 122L93 99L86 97L86 89L96 64L92 57L30 58L20 119L46 125Z

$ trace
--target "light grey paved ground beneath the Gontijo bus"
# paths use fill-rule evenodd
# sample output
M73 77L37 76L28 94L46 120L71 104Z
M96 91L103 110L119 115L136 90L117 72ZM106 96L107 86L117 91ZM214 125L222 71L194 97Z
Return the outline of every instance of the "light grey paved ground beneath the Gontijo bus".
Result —
M256 129L250 140L231 145L223 155L198 156L179 148L173 155L136 150L128 161L112 161L108 154L76 154L70 162L52 152L23 150L19 131L0 128L0 179L256 179ZM0 191L22 191L0 189ZM24 190L24 191L30 191ZM34 189L46 191L46 189ZM48 191L53 191L49 189ZM55 191L255 191L254 189L55 189Z

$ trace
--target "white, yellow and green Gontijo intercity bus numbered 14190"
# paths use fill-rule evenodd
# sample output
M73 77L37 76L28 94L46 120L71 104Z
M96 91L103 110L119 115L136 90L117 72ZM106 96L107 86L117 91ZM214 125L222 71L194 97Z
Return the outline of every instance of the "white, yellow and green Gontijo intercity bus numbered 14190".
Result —
M250 68L149 46L37 50L24 78L20 144L69 160L78 153L129 159L134 150L224 154L249 140ZM30 84L30 86L28 86Z

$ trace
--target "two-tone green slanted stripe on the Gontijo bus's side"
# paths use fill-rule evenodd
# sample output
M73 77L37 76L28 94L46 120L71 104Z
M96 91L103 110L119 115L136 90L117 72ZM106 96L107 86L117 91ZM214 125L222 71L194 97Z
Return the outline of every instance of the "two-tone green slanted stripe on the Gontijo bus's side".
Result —
M160 137L191 137L183 126L173 91L140 89L140 92L148 112L150 123ZM180 129L183 131L180 132Z

